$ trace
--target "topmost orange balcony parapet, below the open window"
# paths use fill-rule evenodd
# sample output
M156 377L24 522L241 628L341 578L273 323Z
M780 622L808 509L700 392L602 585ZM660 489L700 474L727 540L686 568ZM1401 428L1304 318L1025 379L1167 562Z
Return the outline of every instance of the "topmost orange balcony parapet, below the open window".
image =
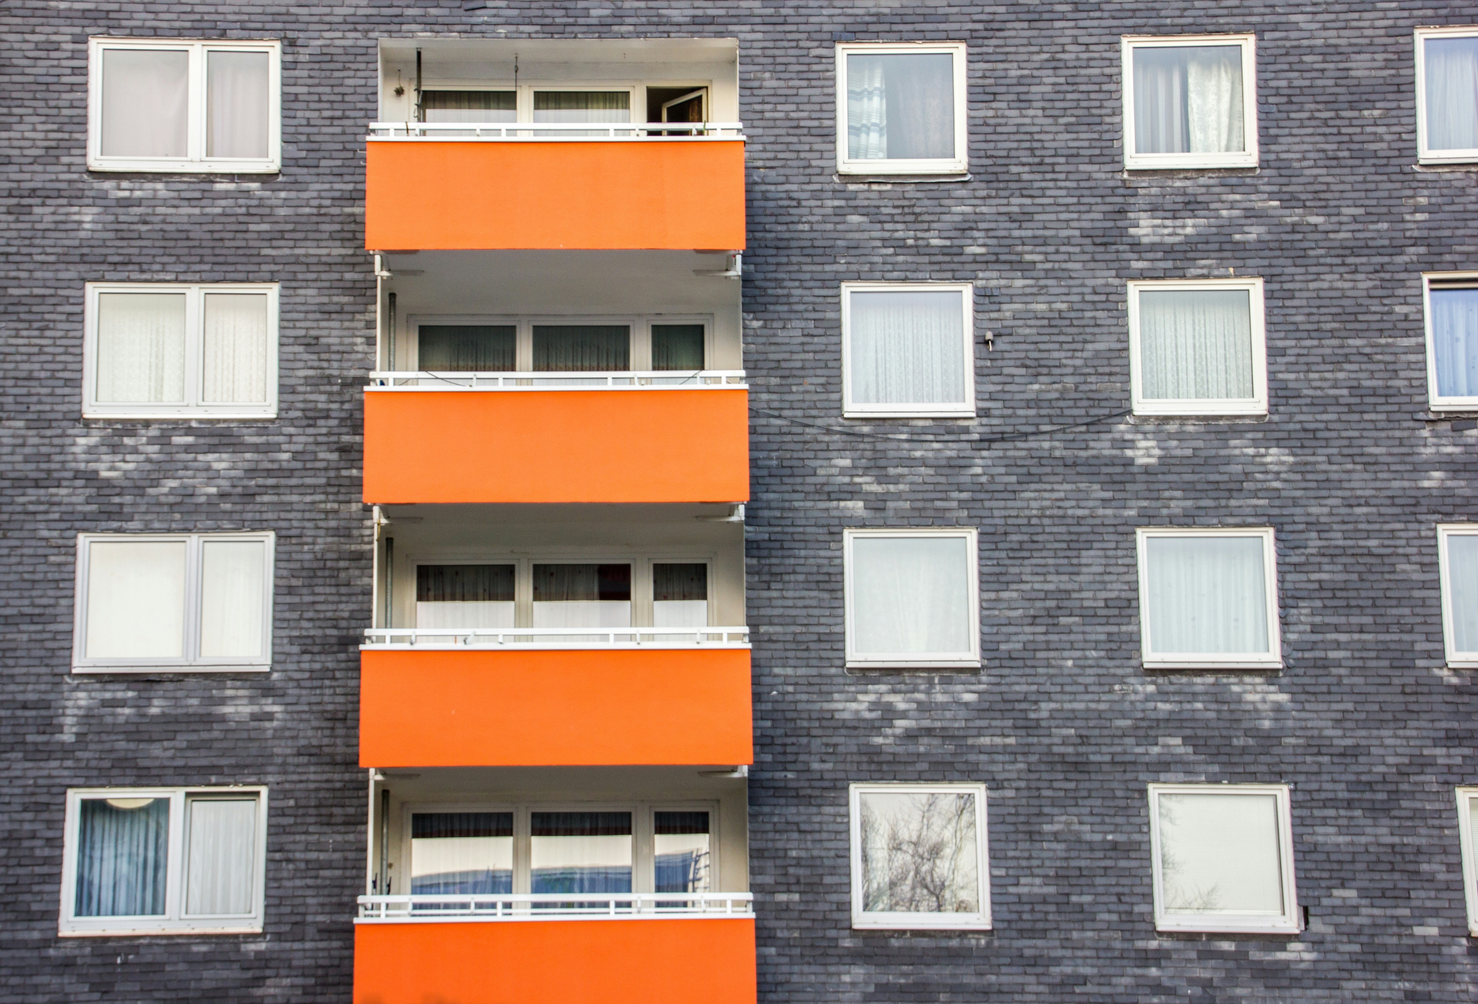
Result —
M743 140L371 139L365 247L743 248Z

